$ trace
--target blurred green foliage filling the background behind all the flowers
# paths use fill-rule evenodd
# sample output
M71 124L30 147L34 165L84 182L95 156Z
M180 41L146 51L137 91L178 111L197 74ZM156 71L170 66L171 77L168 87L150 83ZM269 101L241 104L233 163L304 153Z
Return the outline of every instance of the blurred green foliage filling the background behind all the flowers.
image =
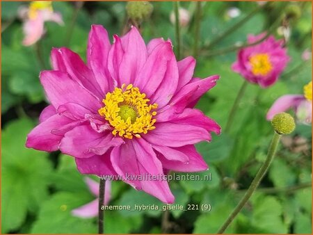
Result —
M95 233L96 218L82 219L70 211L94 200L83 175L77 172L74 159L59 153L48 154L24 147L26 134L38 122L47 105L40 85L40 70L49 70L52 47L67 47L86 59L88 31L91 24L102 24L113 34L121 34L127 17L125 2L86 2L80 10L77 3L54 2L54 10L63 15L65 26L45 24L44 38L35 46L22 45L22 22L17 11L26 2L1 2L1 228L2 233ZM200 24L200 55L195 76L220 74L218 85L200 99L198 108L225 126L234 98L243 83L239 74L230 69L236 51L218 56L205 56L211 40L230 29L258 7L254 2L202 2ZM212 143L199 143L198 151L210 166L211 181L172 181L170 187L175 204L211 204L211 211L170 211L168 232L215 233L244 191L250 185L259 165L265 160L272 128L265 120L266 111L275 99L284 94L300 94L311 78L311 61L301 55L311 48L311 2L287 3L297 5L301 15L289 22L291 35L287 42L291 56L282 78L275 86L262 90L249 85L230 133L213 136ZM170 23L172 2L153 2L154 11L141 29L146 42L152 38L171 38L175 46L175 29ZM182 2L191 13L191 22L182 28L184 56L193 54L195 35L194 2ZM227 10L241 11L231 18ZM245 42L249 33L269 29L284 14L282 3L272 2L250 17L231 35L225 35L213 48L223 49ZM77 19L73 21L75 14ZM72 24L74 22L74 24ZM73 25L72 35L69 33ZM282 38L275 31L277 38ZM69 40L70 38L70 40ZM203 54L202 54L203 52ZM38 60L38 55L42 59ZM302 138L300 147L297 140ZM311 182L311 127L298 124L287 136L291 143L280 145L271 169L227 233L306 233L311 234L312 191L310 187L293 190ZM182 174L182 173L179 173ZM207 172L194 173L204 175ZM270 189L266 191L266 189ZM129 185L114 181L112 205L156 204L159 200ZM160 233L163 211L106 211L106 233Z

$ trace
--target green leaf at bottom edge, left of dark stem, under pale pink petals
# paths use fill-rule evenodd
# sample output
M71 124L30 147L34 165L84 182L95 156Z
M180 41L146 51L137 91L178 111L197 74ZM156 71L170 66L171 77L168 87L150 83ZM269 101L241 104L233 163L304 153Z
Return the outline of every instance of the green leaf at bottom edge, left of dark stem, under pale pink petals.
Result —
M34 234L92 234L97 226L94 219L72 216L72 209L90 202L90 195L79 193L56 193L47 200L38 214L31 233ZM51 219L53 218L53 219Z

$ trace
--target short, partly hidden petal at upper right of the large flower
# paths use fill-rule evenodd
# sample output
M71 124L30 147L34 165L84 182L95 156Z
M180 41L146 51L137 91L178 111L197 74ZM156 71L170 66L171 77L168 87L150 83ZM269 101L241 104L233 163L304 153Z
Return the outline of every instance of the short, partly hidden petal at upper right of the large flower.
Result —
M178 61L179 81L177 90L180 90L185 86L193 77L193 71L195 70L195 58L188 56L183 60Z

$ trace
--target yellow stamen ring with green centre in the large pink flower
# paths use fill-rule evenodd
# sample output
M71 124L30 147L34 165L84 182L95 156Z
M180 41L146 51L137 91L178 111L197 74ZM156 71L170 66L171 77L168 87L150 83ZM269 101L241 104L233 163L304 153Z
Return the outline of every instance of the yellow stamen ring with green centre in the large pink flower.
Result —
M113 135L123 138L141 138L143 133L155 129L153 118L157 115L157 104L148 104L150 99L145 99L145 93L141 93L139 88L134 88L132 84L122 88L115 88L113 92L108 92L102 100L104 107L99 108L99 114L109 121L113 127Z

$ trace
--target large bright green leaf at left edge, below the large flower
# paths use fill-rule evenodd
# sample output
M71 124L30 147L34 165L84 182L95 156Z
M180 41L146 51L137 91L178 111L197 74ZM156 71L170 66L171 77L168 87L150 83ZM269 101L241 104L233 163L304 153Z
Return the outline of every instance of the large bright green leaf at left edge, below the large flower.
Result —
M1 210L2 232L17 229L26 212L37 211L47 199L51 163L47 154L26 149L26 134L33 122L26 119L10 122L3 131ZM30 164L31 163L31 164Z

